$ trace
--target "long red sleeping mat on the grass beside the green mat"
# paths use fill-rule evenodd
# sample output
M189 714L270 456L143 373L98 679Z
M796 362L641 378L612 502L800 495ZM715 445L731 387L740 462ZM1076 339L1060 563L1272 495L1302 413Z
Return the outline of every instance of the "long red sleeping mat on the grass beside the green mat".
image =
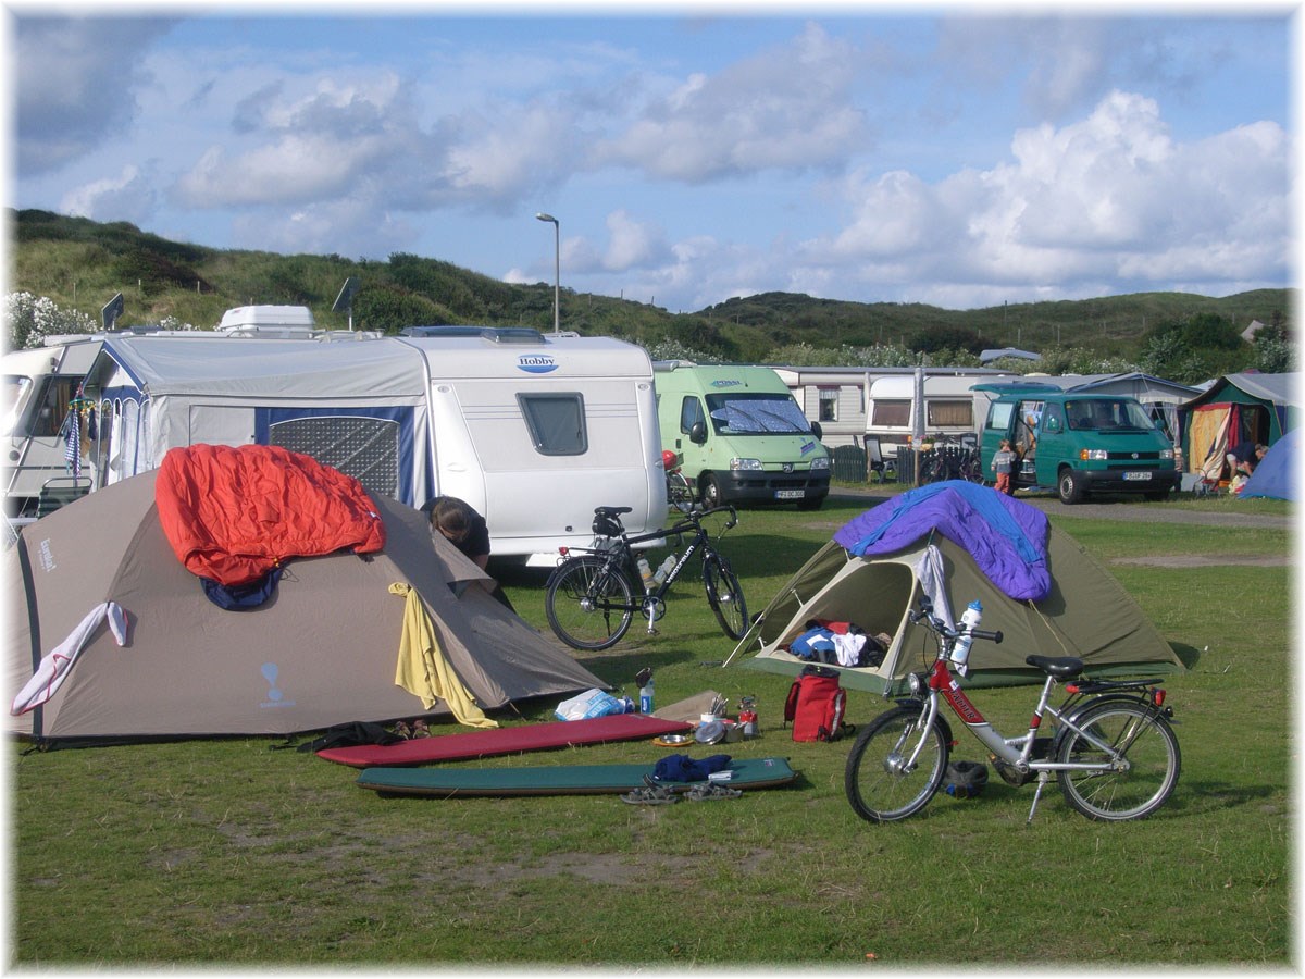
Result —
M551 721L543 724L491 727L452 735L414 738L397 744L359 744L348 748L325 748L317 757L355 769L377 765L420 765L425 761L484 758L491 754L566 748L573 744L633 741L664 734L683 734L693 724L663 721L649 714L609 714L590 721Z

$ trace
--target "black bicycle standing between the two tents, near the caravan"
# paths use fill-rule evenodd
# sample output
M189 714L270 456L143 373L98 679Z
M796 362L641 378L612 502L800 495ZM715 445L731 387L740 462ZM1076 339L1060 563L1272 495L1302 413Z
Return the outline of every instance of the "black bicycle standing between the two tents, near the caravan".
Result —
M702 526L702 520L715 513L728 513L726 531L739 523L733 506L716 506L698 512L690 509L684 520L664 530L630 535L621 525L629 506L599 506L594 510L594 534L602 538L594 548L561 548L562 560L548 578L544 611L553 633L573 649L602 650L620 642L630 628L636 612L647 619L649 634L666 615L666 594L689 564L701 553L702 583L707 604L722 630L731 640L741 640L748 628L748 607L743 586L719 553ZM679 557L671 555L658 569L654 583L645 587L638 573L634 544L679 535L683 540L692 531L693 539ZM572 553L579 550L579 553Z

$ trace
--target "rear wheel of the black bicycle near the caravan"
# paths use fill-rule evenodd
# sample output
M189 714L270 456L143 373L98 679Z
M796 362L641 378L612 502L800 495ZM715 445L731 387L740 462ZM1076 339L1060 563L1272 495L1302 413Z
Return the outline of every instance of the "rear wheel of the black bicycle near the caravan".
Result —
M581 555L562 564L544 595L548 624L573 649L615 646L634 617L630 582L598 555Z

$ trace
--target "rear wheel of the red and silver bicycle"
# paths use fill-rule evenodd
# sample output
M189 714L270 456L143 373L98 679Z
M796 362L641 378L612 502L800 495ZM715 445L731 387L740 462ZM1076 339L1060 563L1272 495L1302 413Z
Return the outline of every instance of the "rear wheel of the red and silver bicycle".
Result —
M1152 710L1130 701L1088 707L1075 723L1113 745L1128 765L1108 771L1057 771L1065 801L1090 820L1141 820L1164 805L1178 783L1182 758L1173 728ZM1069 732L1056 760L1103 762L1107 753L1082 735Z

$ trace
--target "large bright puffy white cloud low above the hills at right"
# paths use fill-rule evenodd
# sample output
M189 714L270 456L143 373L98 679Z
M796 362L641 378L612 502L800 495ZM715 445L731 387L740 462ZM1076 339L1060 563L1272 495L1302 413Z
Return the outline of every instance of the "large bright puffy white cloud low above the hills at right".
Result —
M1013 159L990 170L937 184L852 175L842 184L851 219L805 243L799 261L889 295L912 282L934 298L1009 298L1171 279L1219 294L1257 269L1285 269L1288 153L1274 123L1176 144L1155 102L1112 93L1081 121L1015 133Z

